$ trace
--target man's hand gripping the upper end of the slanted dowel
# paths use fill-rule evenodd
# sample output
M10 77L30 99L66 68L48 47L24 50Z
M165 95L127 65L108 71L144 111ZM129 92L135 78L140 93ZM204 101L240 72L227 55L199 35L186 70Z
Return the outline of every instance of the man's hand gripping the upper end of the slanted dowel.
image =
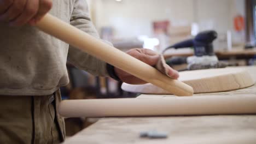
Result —
M52 5L52 0L0 0L0 21L10 26L35 25Z

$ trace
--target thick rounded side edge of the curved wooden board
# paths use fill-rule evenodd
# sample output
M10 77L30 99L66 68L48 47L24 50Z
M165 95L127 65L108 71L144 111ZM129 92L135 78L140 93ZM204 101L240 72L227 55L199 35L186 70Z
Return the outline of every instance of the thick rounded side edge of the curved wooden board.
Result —
M236 69L234 69L236 70ZM233 91L254 85L254 79L246 69L239 69L238 73L225 74L218 78L208 77L203 80L183 81L194 88L194 93L213 93ZM127 92L143 94L171 94L162 88L156 87L150 83L144 85L130 85L123 83L121 88Z

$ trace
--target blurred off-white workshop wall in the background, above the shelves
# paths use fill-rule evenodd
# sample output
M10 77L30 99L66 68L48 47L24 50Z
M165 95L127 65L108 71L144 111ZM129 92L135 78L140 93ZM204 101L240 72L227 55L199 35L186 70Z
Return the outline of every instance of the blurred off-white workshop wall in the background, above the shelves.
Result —
M96 0L92 17L97 29L114 28L117 38L152 35L152 22L169 20L172 26L196 22L200 29L232 30L232 17L245 15L244 0Z

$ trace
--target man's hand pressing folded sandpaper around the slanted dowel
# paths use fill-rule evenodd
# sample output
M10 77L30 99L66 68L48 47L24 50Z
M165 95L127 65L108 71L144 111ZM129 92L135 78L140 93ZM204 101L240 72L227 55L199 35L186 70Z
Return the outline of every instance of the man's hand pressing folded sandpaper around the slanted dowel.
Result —
M131 49L126 53L152 66L156 65L159 59L159 54L149 49ZM114 68L114 70L117 76L119 77L119 79L121 79L121 81L123 82L130 83L130 84L147 83L118 68ZM172 69L171 67L168 67L167 70L168 70L169 76L171 76L173 79L178 79L179 77L178 71Z

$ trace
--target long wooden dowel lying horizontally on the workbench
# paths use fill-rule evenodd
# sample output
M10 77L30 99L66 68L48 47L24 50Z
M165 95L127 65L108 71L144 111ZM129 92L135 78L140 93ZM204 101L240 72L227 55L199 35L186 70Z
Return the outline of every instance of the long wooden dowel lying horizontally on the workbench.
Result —
M256 113L255 96L212 95L167 98L63 100L65 117L126 117Z

